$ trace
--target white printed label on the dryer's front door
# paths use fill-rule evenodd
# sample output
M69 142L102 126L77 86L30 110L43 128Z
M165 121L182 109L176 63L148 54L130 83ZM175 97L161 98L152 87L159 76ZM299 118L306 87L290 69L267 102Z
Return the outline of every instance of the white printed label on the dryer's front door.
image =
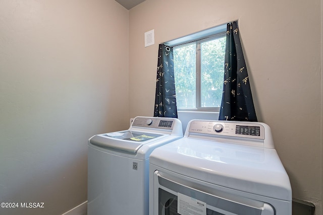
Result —
M206 215L206 203L177 193L177 213L181 215Z

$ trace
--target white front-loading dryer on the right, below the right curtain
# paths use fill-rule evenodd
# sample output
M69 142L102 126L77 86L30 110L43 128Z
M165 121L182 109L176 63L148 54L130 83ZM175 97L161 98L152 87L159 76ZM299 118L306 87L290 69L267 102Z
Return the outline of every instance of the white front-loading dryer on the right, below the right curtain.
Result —
M271 129L192 120L149 160L150 215L291 215L289 177Z

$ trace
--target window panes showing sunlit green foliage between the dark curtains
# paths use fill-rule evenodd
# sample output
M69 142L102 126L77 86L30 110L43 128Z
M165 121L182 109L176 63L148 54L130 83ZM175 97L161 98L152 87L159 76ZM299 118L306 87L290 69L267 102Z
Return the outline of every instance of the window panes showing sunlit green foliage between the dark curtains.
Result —
M226 35L174 46L176 102L179 110L219 111Z

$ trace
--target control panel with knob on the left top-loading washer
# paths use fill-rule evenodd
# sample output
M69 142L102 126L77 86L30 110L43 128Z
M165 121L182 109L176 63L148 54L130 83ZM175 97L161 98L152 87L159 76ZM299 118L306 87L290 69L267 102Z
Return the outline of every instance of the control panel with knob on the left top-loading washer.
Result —
M136 117L132 122L132 126L173 129L175 119L161 117Z

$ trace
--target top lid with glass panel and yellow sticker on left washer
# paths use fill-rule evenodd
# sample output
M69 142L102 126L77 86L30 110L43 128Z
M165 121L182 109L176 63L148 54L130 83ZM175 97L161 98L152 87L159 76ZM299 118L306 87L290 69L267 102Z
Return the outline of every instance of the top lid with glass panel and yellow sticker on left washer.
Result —
M89 139L90 144L127 153L136 154L147 142L159 139L168 134L146 133L138 131L119 131L105 134L97 134Z

